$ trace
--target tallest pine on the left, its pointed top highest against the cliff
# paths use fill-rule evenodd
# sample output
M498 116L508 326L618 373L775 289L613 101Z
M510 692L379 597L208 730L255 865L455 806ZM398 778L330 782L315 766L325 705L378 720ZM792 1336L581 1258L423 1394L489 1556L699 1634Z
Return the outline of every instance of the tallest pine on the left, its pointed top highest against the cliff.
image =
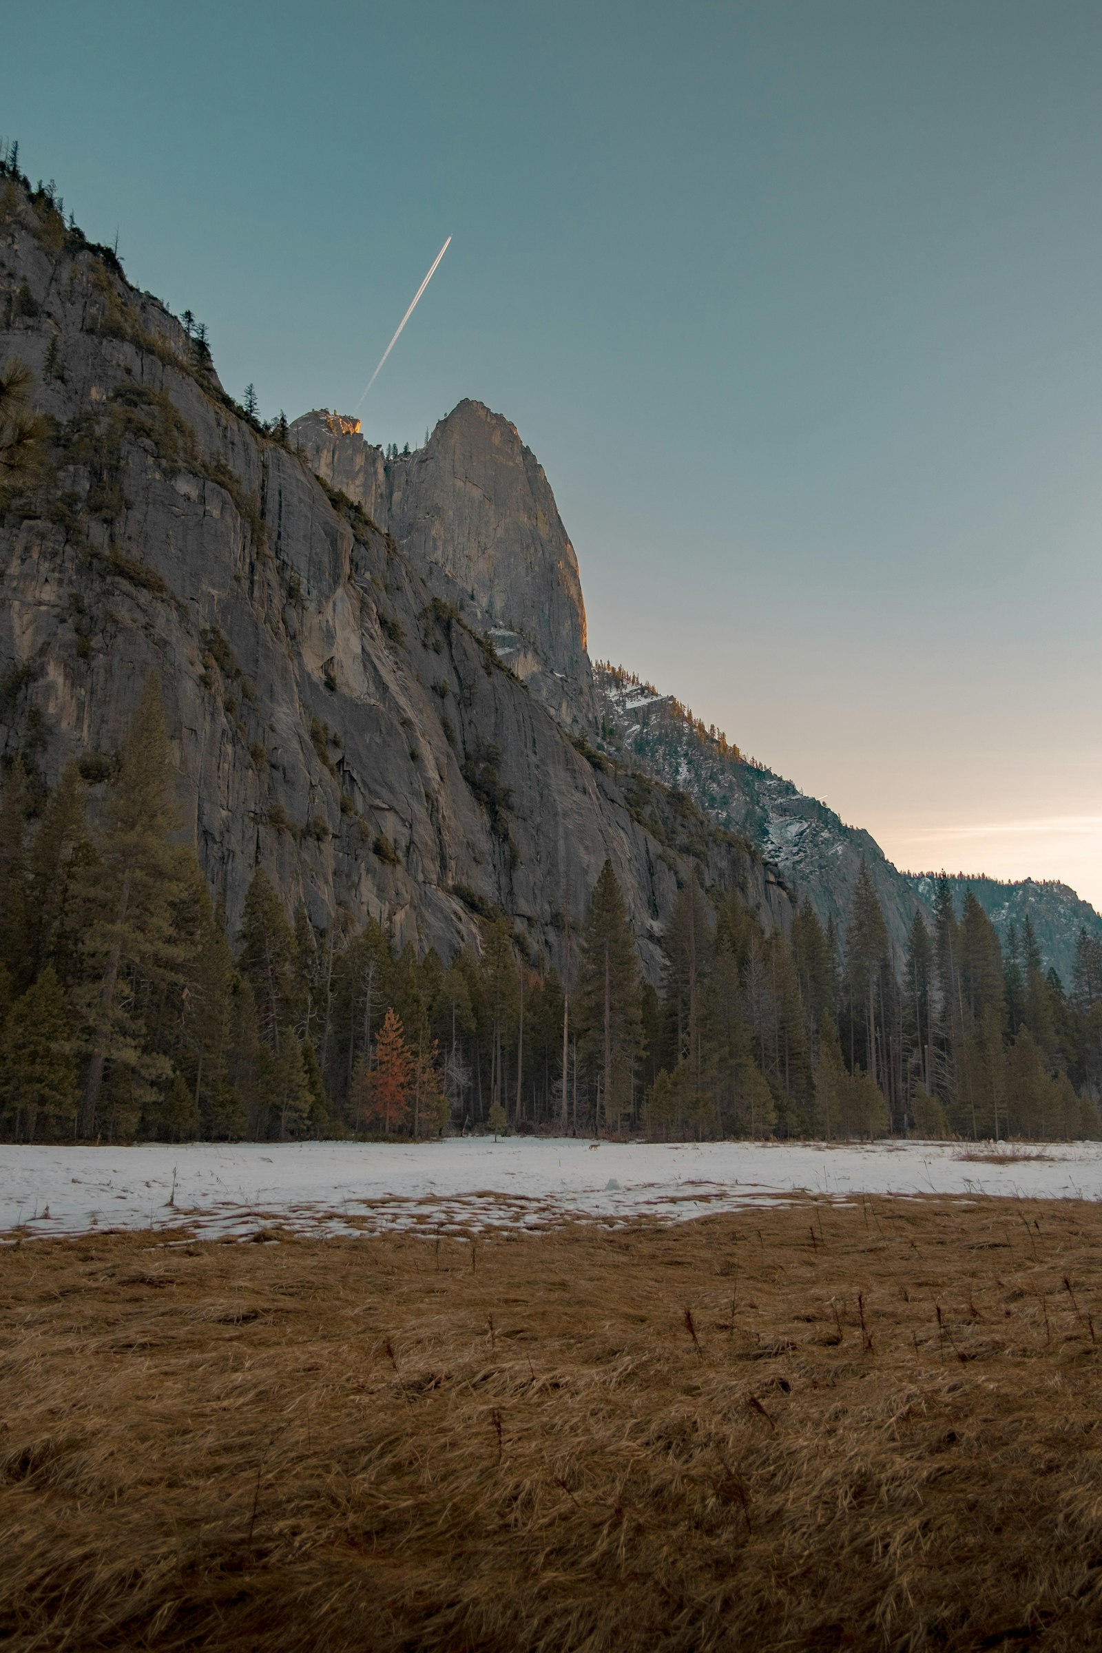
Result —
M142 1008L152 993L182 988L173 906L185 881L175 826L173 772L160 683L150 676L122 744L96 861L81 869L83 982L78 1005L89 1053L79 1134L96 1132L104 1078L117 1088L119 1127L135 1127L144 1103L172 1065L147 1048Z

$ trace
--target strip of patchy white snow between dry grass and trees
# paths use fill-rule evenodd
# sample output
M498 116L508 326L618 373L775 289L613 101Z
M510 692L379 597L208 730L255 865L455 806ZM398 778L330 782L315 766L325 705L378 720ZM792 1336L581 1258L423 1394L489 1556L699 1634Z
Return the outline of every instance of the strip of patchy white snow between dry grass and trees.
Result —
M970 1159L976 1152L985 1159ZM1021 1157L1024 1155L1024 1157ZM479 1228L775 1203L795 1192L1102 1198L1102 1144L601 1142L489 1137L423 1144L188 1142L3 1147L0 1233L281 1223L301 1233Z

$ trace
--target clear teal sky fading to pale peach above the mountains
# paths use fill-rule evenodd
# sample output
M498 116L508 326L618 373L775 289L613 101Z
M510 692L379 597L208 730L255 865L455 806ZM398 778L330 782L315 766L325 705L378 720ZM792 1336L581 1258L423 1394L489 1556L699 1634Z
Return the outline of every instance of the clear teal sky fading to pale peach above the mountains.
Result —
M904 868L1102 906L1102 7L36 0L0 132L261 413L463 397L590 651Z

